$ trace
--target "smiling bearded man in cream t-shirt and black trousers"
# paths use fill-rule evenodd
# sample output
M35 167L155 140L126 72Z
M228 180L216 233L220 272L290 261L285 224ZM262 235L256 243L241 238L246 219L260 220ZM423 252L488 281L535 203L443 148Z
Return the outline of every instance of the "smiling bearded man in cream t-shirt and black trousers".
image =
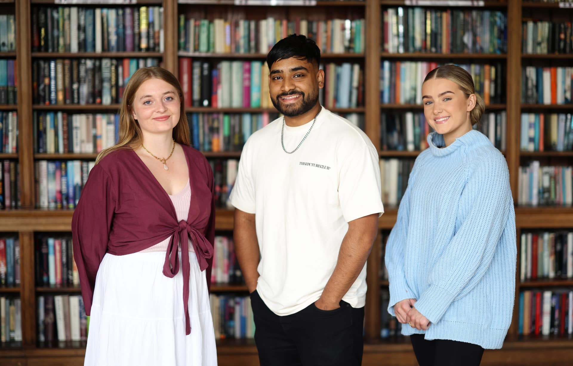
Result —
M378 152L321 107L314 41L286 37L266 62L284 117L249 137L230 196L260 363L360 365L366 259L384 212Z

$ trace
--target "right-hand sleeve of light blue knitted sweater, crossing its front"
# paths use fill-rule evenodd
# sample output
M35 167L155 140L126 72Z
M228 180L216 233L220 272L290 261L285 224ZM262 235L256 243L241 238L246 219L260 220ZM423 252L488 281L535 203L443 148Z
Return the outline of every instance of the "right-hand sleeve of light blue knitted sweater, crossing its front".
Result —
M434 324L453 301L480 282L512 212L509 172L502 155L481 159L468 174L460 197L467 214L430 271L429 287L414 305Z

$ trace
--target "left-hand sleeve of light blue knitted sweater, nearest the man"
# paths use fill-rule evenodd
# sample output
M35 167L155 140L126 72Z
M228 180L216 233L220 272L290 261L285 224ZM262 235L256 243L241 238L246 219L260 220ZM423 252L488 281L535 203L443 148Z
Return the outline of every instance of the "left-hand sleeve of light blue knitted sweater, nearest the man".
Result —
M406 231L408 228L408 218L410 214L410 191L414 182L415 169L412 169L408 179L408 187L402 196L400 206L398 207L398 217L396 223L390 232L386 242L386 254L384 262L388 269L388 280L390 285L390 303L388 304L388 313L395 316L394 305L397 302L414 298L414 293L409 288L406 276L404 274L404 245L406 242Z

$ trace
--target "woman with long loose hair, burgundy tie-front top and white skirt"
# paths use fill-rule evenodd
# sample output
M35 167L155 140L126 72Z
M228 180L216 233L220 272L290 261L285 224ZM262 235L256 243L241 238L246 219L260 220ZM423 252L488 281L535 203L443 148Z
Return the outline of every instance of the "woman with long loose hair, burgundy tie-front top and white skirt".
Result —
M130 78L119 140L97 156L72 220L91 316L85 365L216 365L209 308L213 172L189 146L179 82Z

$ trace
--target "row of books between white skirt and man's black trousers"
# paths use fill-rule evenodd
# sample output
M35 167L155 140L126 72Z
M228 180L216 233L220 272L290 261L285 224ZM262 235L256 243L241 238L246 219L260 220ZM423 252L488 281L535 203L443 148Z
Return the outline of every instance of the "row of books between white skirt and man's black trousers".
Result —
M215 339L254 337L254 319L250 297L209 295Z

